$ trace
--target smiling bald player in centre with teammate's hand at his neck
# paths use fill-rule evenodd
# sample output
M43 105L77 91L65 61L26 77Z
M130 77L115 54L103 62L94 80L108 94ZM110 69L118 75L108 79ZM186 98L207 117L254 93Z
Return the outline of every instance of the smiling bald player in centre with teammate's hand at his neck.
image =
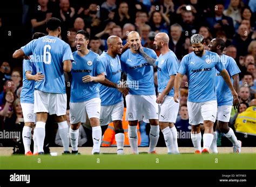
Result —
M129 120L129 142L134 154L138 152L138 120L149 119L150 147L149 153L156 153L155 148L159 138L158 106L154 89L153 67L139 52L141 38L139 33L132 31L127 36L127 49L121 55L122 71L127 74L129 95L126 96L126 120ZM153 59L157 54L149 48L141 47Z

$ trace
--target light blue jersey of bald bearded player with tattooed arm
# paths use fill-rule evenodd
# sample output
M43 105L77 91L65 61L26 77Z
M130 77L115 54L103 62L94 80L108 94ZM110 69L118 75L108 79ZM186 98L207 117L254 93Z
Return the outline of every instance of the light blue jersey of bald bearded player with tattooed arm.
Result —
M158 92L161 93L167 87L171 75L177 74L178 59L176 55L169 51L165 55L160 54L156 60L157 65L157 84ZM174 96L174 88L167 94L167 96Z

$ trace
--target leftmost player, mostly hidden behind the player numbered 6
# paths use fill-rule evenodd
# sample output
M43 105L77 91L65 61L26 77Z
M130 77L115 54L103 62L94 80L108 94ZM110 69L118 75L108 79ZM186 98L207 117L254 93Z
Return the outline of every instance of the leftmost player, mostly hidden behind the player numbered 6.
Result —
M38 39L44 37L46 34L36 32L32 36L33 39ZM44 75L42 73L36 72L36 66L31 60L23 60L23 86L21 91L21 107L24 117L24 127L22 131L22 140L25 149L25 155L32 155L30 150L31 144L31 131L36 122L36 116L33 112L34 110L34 90L35 81L42 81ZM38 154L35 130L33 134L33 154Z

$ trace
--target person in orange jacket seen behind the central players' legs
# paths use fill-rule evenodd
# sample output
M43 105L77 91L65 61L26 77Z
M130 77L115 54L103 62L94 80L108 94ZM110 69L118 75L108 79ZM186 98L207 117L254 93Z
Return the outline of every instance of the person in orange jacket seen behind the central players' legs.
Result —
M124 129L124 146L128 147L129 144L129 136L128 136L128 125L129 122L125 120L125 114L126 114L126 107L124 108L124 116L123 116L123 129ZM140 132L139 132L139 125L137 126L137 132L138 132L138 146L140 145L141 138L140 138ZM110 123L107 127L104 138L102 141L102 147L112 147L117 146L116 139L114 137L114 125L113 123Z

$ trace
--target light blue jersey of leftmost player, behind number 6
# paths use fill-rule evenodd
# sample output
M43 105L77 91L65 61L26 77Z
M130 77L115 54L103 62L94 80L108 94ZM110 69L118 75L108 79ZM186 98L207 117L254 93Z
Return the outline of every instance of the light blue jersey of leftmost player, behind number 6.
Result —
M36 75L36 66L30 60L23 60L23 85L21 91L21 103L34 103L35 81L29 81L26 78L26 71L31 71Z

